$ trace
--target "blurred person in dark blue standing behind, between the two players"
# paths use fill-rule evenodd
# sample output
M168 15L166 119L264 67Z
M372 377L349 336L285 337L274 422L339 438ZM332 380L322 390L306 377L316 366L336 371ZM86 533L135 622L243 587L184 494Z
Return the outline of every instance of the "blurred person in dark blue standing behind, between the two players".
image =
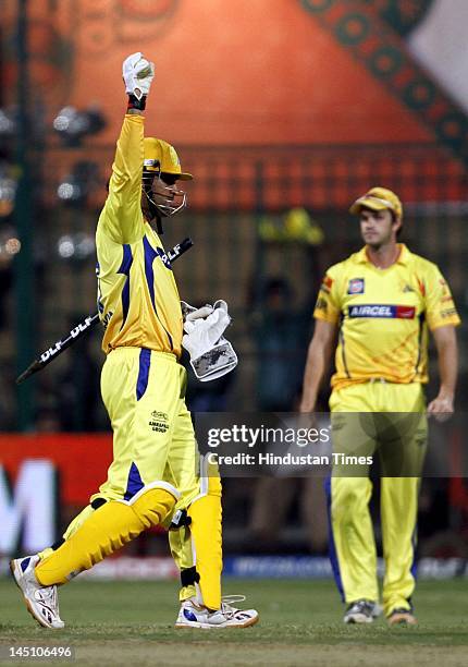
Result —
M303 363L310 336L311 312L295 308L284 277L270 277L253 315L258 372L259 412L291 412L300 395ZM298 506L297 511L294 508ZM249 542L256 550L279 547L281 531L300 516L311 551L327 550L325 496L320 477L260 477L256 484Z

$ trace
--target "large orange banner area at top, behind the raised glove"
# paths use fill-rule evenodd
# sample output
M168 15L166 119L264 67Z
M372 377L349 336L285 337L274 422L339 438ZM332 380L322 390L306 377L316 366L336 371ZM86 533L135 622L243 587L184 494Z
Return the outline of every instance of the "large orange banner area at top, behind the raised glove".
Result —
M122 61L156 62L147 134L176 146L424 142L431 133L299 0L30 0L30 76L37 106L99 109L116 140L126 97ZM15 5L7 3L5 43ZM320 13L320 12L319 12ZM353 36L352 36L353 37ZM4 87L17 63L5 54Z

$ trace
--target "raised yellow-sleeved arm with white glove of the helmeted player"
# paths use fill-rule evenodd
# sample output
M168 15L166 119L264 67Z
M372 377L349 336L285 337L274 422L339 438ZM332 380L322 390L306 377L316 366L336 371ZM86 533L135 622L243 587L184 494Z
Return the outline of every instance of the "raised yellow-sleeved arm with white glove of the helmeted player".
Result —
M123 63L128 108L118 140L109 195L101 211L98 230L116 243L132 243L145 234L141 214L141 173L144 161L144 111L153 78L153 64L141 53Z

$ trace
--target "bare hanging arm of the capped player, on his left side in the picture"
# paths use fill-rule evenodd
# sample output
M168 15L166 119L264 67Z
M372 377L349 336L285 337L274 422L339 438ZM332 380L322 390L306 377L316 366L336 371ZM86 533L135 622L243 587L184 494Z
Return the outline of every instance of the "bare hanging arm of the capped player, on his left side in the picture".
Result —
M330 322L316 319L316 328L307 353L304 373L303 399L300 412L313 412L320 385L329 368L337 326Z

